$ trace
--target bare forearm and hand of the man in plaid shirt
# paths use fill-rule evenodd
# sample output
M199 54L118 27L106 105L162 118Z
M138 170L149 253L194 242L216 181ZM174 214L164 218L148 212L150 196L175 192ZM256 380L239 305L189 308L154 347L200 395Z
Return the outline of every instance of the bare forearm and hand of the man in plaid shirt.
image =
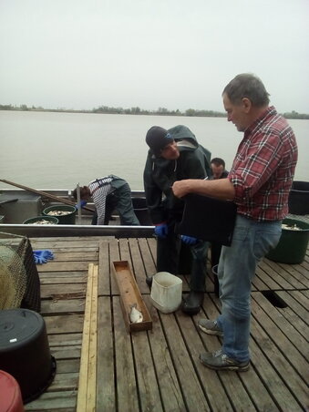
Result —
M174 195L182 198L188 193L197 193L211 196L217 199L232 201L235 197L235 189L228 179L199 180L188 179L175 181L172 186Z

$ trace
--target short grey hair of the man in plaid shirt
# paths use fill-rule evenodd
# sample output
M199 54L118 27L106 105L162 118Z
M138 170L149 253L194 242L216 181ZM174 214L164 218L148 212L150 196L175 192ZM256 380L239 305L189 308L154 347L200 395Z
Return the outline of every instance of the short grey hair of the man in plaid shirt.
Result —
M267 93L261 79L250 73L242 73L234 77L225 86L222 95L226 94L232 104L239 104L242 98L249 98L252 106L262 108L269 104L269 93Z

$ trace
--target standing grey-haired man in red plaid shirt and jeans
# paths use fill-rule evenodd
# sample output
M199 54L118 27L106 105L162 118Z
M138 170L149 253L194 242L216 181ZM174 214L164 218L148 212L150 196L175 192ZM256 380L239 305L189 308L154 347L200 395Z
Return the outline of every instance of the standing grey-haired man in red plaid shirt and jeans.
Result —
M200 355L211 369L246 371L249 368L251 283L256 264L276 246L288 213L288 197L297 162L294 132L275 108L262 81L238 75L224 88L228 121L244 132L226 179L180 180L174 194L199 193L237 204L231 247L223 246L218 268L221 315L201 319L209 335L223 336L216 352Z

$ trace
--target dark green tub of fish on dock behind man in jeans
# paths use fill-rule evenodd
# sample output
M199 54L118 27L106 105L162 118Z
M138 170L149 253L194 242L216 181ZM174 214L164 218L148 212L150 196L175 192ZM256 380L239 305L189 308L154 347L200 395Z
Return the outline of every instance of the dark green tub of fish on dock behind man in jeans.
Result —
M284 219L283 223L288 225L296 224L302 230L283 229L279 243L271 252L266 254L266 257L278 263L302 263L308 245L309 223L295 219Z

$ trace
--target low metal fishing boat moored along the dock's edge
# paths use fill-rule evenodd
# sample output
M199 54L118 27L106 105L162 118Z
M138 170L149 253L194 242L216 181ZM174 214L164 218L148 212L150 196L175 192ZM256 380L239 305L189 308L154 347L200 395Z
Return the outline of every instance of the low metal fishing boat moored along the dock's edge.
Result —
M91 219L95 206L88 203L86 208L76 213L75 224L25 224L26 220L43 215L51 206L61 204L74 205L76 201L69 190L23 190L0 189L0 232L40 236L116 236L149 237L153 226L149 220L146 199L143 191L132 191L134 211L140 226L119 224L117 214L112 216L108 225L92 225ZM117 211L116 211L117 213Z

